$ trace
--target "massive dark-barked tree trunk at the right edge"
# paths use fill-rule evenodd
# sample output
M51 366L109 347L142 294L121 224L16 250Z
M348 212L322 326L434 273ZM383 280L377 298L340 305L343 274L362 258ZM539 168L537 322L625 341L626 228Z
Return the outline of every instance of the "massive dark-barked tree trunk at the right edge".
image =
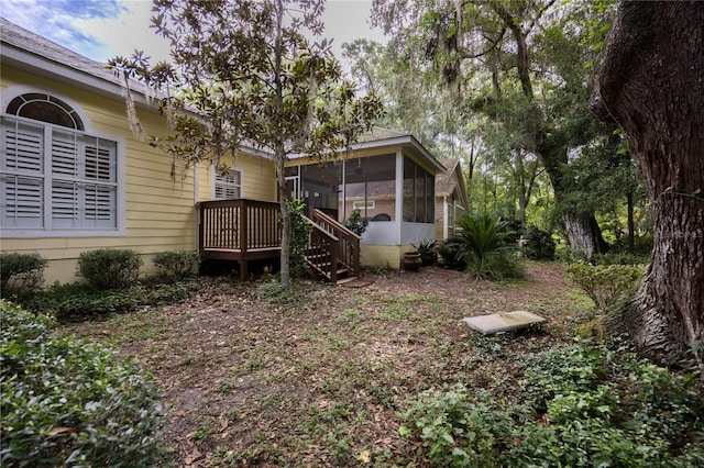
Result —
M652 199L651 264L623 325L674 365L704 342L704 2L624 1L602 67L593 108L623 125Z

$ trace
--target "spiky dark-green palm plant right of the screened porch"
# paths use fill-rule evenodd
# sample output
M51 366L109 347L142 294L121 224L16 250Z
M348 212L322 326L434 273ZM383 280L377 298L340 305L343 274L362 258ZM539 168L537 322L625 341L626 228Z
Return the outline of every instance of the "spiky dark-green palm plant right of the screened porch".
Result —
M454 260L463 263L469 272L482 279L521 276L517 246L507 242L512 232L505 221L488 214L465 214L457 224L459 232L446 243L455 252Z

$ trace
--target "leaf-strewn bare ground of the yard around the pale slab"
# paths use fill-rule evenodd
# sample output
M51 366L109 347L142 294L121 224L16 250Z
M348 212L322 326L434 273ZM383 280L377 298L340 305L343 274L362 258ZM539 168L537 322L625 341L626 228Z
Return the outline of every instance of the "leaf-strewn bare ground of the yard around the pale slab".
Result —
M201 279L183 303L72 324L133 356L161 383L178 466L422 466L404 412L421 392L491 389L515 401L524 360L572 343L591 301L557 264L522 280L439 267L367 272L358 287ZM528 310L541 330L483 337L465 316Z

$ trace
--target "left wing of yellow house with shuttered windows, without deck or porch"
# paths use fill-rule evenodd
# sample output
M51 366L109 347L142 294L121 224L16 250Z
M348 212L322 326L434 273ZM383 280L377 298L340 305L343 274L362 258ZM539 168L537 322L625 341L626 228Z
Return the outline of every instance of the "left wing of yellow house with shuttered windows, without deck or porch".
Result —
M0 247L40 253L50 283L75 280L86 250L135 249L148 270L150 254L196 249L198 201L275 200L273 161L258 152L229 160L230 177L211 167L170 177L170 157L131 131L112 73L0 21ZM135 99L147 133L166 134L154 105Z

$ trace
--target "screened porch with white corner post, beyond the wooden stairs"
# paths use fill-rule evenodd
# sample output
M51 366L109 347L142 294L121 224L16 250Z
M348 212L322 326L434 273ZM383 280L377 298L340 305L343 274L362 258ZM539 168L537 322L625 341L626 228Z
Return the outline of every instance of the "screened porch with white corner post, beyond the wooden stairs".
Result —
M295 158L286 170L307 214L344 221L358 209L369 220L363 265L397 268L411 244L435 238L435 178L444 168L413 135L375 129L337 158Z

